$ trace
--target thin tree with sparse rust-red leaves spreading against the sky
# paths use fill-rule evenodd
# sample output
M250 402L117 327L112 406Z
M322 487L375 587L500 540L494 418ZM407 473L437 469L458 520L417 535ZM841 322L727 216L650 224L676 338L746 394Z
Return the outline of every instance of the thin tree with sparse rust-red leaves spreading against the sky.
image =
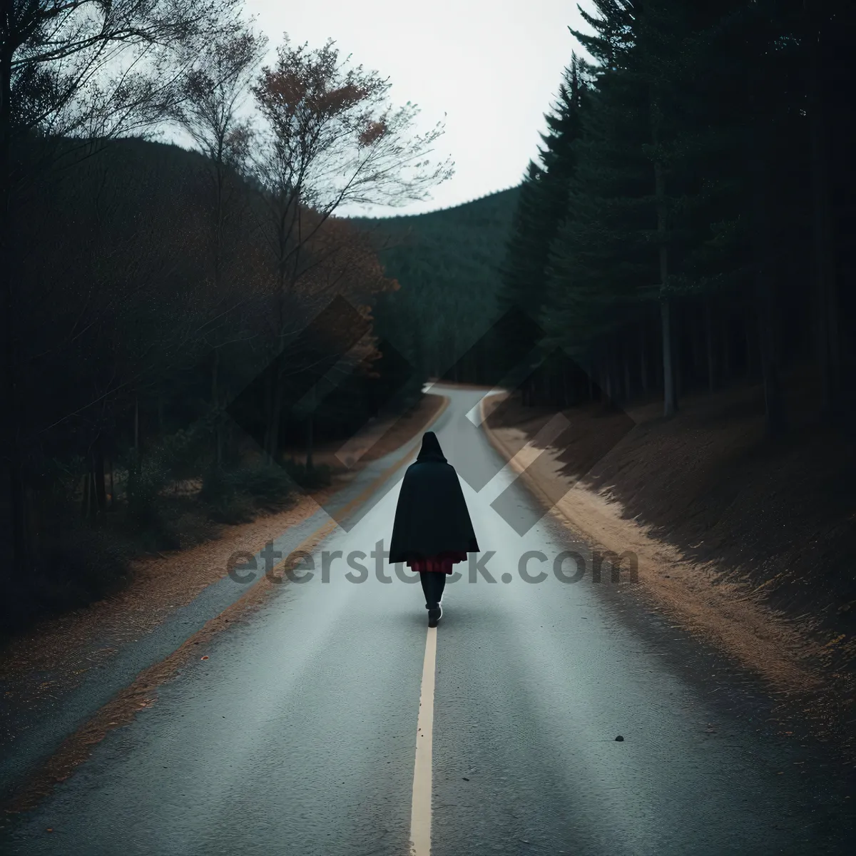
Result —
M262 70L253 87L265 134L255 153L269 207L268 232L276 259L278 351L288 336L289 298L300 277L322 259L303 258L303 249L342 205L404 205L425 199L448 179L453 164L430 157L443 134L437 125L413 134L419 114L407 102L389 104L389 80L360 65L340 61L331 39L308 51L285 36L276 64ZM307 264L307 262L309 262ZM271 375L271 377L274 377ZM270 390L266 451L276 451L282 410L282 383Z

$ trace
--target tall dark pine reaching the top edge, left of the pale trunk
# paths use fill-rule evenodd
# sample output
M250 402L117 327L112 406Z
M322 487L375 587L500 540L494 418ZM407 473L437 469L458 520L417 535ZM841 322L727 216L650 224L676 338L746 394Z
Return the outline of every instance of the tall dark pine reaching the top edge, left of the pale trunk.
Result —
M550 344L578 356L603 352L640 284L656 282L648 128L639 110L645 90L630 70L632 7L615 0L596 6L601 17L583 13L596 34L572 31L599 64L588 67L595 82L574 145L568 207L550 247L542 312Z

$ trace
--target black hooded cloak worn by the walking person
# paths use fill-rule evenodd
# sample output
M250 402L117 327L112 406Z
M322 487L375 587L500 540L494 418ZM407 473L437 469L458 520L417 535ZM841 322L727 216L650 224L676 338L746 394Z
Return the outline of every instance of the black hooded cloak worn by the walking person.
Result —
M401 482L389 563L458 552L477 553L479 544L458 473L443 456L437 435L426 431Z

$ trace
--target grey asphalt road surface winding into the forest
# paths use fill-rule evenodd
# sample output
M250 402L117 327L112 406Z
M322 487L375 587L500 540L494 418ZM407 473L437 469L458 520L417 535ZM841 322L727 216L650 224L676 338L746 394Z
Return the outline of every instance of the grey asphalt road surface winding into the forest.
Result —
M431 854L849 852L827 768L800 765L806 750L764 726L763 698L736 671L717 696L732 703L715 703L716 655L634 617L608 575L557 580L555 556L587 551L549 519L519 535L508 520L536 508L523 487L502 516L490 507L514 475L490 480L502 462L466 417L479 393L449 395L434 427L449 461L485 485L462 479L495 581L465 570L443 600ZM430 635L417 578L383 562L382 581L370 556L389 545L401 474L321 545L311 579L218 636L19 817L0 853L405 856ZM322 550L342 550L327 581ZM521 579L527 550L547 557L528 566L545 580ZM364 582L345 578L360 574L354 551Z

